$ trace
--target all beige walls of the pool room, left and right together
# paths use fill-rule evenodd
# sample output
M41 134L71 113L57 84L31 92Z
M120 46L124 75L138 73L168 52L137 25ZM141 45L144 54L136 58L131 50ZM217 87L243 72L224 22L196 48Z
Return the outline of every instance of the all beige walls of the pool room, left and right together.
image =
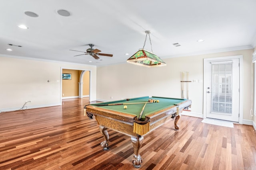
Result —
M138 96L180 98L180 72L189 72L190 80L203 80L205 58L243 55L243 119L251 121L253 51L251 49L169 58L164 59L167 66L156 68L128 63L96 68L89 65L29 60L2 55L0 72L4 74L0 82L0 110L20 108L25 101L30 100L28 108L60 105L62 69L90 71L91 101L119 100ZM84 80L84 84L85 82ZM192 112L202 115L203 83L189 84L189 99L192 100Z

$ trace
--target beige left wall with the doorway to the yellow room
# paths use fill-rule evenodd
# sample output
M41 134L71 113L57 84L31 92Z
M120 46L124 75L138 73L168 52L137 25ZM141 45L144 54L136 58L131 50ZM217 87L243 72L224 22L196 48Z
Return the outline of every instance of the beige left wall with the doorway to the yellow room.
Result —
M20 109L25 101L31 101L27 104L28 108L61 105L62 68L90 70L90 100L96 100L96 66L0 55L0 110Z

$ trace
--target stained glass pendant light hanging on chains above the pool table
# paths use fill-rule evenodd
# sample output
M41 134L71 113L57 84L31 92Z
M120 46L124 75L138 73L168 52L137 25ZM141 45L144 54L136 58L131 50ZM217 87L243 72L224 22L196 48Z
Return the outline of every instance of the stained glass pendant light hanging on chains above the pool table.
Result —
M152 44L150 39L150 31L145 31L146 39L147 36L149 37L150 45L151 45L151 52L144 49L146 44L146 39L144 42L144 46L142 49L139 49L137 53L135 53L132 57L127 60L127 63L136 64L139 66L146 66L146 67L156 67L156 66L166 66L166 63L160 59L157 55L155 55L152 51Z

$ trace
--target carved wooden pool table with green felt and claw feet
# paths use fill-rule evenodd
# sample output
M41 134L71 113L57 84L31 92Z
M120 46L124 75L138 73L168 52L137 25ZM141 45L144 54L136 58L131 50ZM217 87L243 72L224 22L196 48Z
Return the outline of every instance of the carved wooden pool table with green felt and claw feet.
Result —
M156 102L150 102L150 100ZM100 133L104 137L104 141L100 145L104 150L109 149L107 128L129 135L134 148L132 163L134 167L139 168L142 163L140 148L144 139L143 135L154 131L171 118L175 118L174 130L178 130L177 123L180 119L180 113L184 108L190 107L191 103L191 100L187 99L145 96L89 104L84 106L84 114L87 114L90 119L94 115L100 125ZM127 108L125 109L124 106L127 106Z

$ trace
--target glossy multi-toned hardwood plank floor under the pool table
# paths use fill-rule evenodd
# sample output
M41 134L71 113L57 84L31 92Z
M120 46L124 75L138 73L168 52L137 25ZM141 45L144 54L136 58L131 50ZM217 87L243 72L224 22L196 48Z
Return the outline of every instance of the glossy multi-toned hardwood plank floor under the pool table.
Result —
M95 119L84 116L88 98L66 99L62 106L0 113L0 169L130 170L130 137L108 130L110 150ZM234 128L182 116L144 136L140 170L256 169L256 134L252 126Z

